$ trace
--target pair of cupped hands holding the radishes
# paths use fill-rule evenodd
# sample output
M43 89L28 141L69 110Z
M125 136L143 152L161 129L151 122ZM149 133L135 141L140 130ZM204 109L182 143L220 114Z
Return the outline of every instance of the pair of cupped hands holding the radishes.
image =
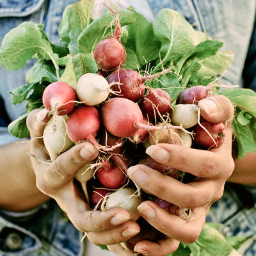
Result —
M166 238L137 243L134 250L142 255L162 256L177 250L180 241L193 243L204 227L209 207L222 196L224 184L234 170L231 155L231 125L234 116L232 104L226 97L214 95L201 100L198 106L205 120L227 124L221 147L198 150L180 145L158 144L147 151L159 163L195 175L193 182L183 184L142 164L132 166L127 172L136 184L148 192L180 208L192 209L189 221L186 221L177 216L177 212L172 214L154 202L143 202L138 207L141 216L165 234ZM84 164L97 157L97 150L88 142L78 143L53 163L45 163L49 155L44 147L42 134L48 121L45 110L35 109L29 113L31 154L37 157L31 158L36 186L56 200L61 209L67 212L74 226L86 232L92 243L107 244L109 250L120 256L134 255L131 250L125 250L121 243L140 232L138 223L129 220L129 213L120 207L103 212L92 211L74 184L76 173Z

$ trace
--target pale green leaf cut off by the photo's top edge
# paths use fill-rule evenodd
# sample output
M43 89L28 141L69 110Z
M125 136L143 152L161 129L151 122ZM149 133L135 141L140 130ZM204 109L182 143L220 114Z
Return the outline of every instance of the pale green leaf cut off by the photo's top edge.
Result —
M92 8L92 0L81 0L68 5L63 12L59 35L63 41L67 42L71 54L78 53L77 38L90 24Z

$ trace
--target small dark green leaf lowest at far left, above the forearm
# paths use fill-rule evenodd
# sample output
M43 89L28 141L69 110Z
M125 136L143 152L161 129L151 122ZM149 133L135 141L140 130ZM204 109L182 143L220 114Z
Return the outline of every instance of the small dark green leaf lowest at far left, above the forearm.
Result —
M8 131L10 134L20 139L29 137L30 133L26 125L27 116L28 113L20 116L8 125Z

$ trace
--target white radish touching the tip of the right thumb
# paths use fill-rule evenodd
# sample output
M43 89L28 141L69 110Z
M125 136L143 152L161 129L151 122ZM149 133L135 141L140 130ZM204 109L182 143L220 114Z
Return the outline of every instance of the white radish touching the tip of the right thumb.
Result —
M180 125L184 129L193 127L198 122L199 108L195 104L177 104L171 113L172 124Z

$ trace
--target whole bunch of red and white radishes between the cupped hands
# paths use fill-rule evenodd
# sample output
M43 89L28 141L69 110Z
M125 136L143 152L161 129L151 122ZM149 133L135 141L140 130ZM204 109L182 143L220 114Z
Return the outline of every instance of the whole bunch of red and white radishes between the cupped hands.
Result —
M129 166L147 164L163 175L182 177L179 170L147 157L145 148L156 143L219 147L224 124L211 124L200 117L196 104L211 95L211 88L187 88L172 106L165 90L145 86L147 79L164 75L166 70L154 76L141 76L132 69L122 68L126 52L120 43L118 15L113 13L115 33L99 42L94 51L99 73L84 74L76 88L55 82L45 89L43 103L51 120L44 130L44 143L51 161L74 143L90 141L95 145L99 157L76 175L88 204L101 210L119 205L136 221L140 217L136 207L143 200L154 200L166 211L170 211L171 205L140 191L127 177Z

